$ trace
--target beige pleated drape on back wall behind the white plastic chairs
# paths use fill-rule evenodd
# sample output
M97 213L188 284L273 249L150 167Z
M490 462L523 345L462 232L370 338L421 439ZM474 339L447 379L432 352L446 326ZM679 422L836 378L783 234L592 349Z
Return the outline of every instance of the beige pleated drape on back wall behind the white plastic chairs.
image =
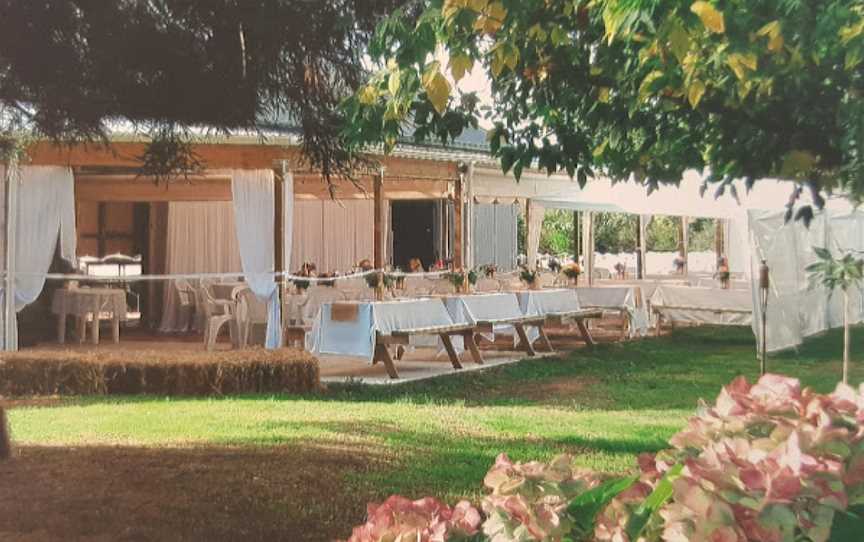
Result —
M234 205L230 201L170 202L166 240L165 272L239 273ZM159 331L186 331L189 312L179 306L173 282L165 288Z

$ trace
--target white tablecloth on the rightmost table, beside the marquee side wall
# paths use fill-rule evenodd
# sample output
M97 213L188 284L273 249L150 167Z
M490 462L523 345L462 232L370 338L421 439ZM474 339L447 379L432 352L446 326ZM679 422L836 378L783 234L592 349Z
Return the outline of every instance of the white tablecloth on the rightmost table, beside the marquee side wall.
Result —
M661 286L651 296L651 306L670 307L663 310L663 318L673 322L749 326L753 321L753 298L747 290Z

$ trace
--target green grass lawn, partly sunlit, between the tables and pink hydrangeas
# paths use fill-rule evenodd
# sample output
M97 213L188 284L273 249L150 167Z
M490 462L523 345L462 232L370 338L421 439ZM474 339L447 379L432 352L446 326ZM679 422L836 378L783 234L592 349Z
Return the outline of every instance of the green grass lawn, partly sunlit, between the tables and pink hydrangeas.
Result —
M864 352L862 330L853 338L853 354ZM840 333L832 332L770 358L769 367L829 391L840 351ZM864 364L854 365L858 383ZM700 328L405 385L346 384L303 397L85 398L9 416L25 452L284 450L285 469L308 468L351 498L338 512L314 491L302 512L291 510L289 496L267 506L308 516L336 536L362 519L363 502L390 493L478 496L501 451L520 460L568 452L586 467L626 471L638 453L663 448L699 399L711 401L723 384L741 374L754 379L757 370L749 330ZM333 460L322 467L321 457Z

